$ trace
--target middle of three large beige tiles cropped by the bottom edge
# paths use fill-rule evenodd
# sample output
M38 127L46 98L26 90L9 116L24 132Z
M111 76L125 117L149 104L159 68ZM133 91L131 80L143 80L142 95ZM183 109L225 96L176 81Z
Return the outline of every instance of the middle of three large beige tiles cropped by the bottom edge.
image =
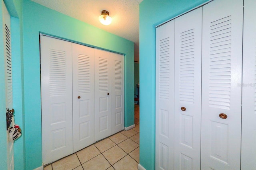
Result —
M111 165L108 161L104 158L102 154L92 158L91 160L82 164L85 170L106 170Z

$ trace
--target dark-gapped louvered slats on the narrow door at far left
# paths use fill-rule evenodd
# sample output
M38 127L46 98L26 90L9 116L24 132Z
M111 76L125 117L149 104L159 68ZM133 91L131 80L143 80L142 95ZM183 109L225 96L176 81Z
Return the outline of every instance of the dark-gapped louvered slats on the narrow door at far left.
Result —
M12 55L11 55L11 33L7 25L5 25L6 40L6 94L7 106L12 106Z

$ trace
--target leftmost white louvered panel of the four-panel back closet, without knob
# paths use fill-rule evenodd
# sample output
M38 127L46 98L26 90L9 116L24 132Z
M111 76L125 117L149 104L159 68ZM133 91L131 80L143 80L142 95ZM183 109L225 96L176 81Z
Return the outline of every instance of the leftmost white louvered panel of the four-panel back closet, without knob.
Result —
M40 39L42 158L48 164L73 153L72 44Z

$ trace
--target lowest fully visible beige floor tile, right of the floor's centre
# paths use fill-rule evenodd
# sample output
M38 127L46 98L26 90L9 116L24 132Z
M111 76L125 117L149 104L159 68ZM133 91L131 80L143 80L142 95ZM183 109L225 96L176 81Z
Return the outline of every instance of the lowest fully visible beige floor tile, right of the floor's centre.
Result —
M111 165L126 155L126 152L117 145L102 153Z

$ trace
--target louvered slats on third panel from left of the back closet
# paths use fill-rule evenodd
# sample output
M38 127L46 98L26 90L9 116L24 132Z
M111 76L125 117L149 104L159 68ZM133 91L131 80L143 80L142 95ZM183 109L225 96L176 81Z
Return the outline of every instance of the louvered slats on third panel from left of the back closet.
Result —
M99 91L108 91L108 59L99 58Z

